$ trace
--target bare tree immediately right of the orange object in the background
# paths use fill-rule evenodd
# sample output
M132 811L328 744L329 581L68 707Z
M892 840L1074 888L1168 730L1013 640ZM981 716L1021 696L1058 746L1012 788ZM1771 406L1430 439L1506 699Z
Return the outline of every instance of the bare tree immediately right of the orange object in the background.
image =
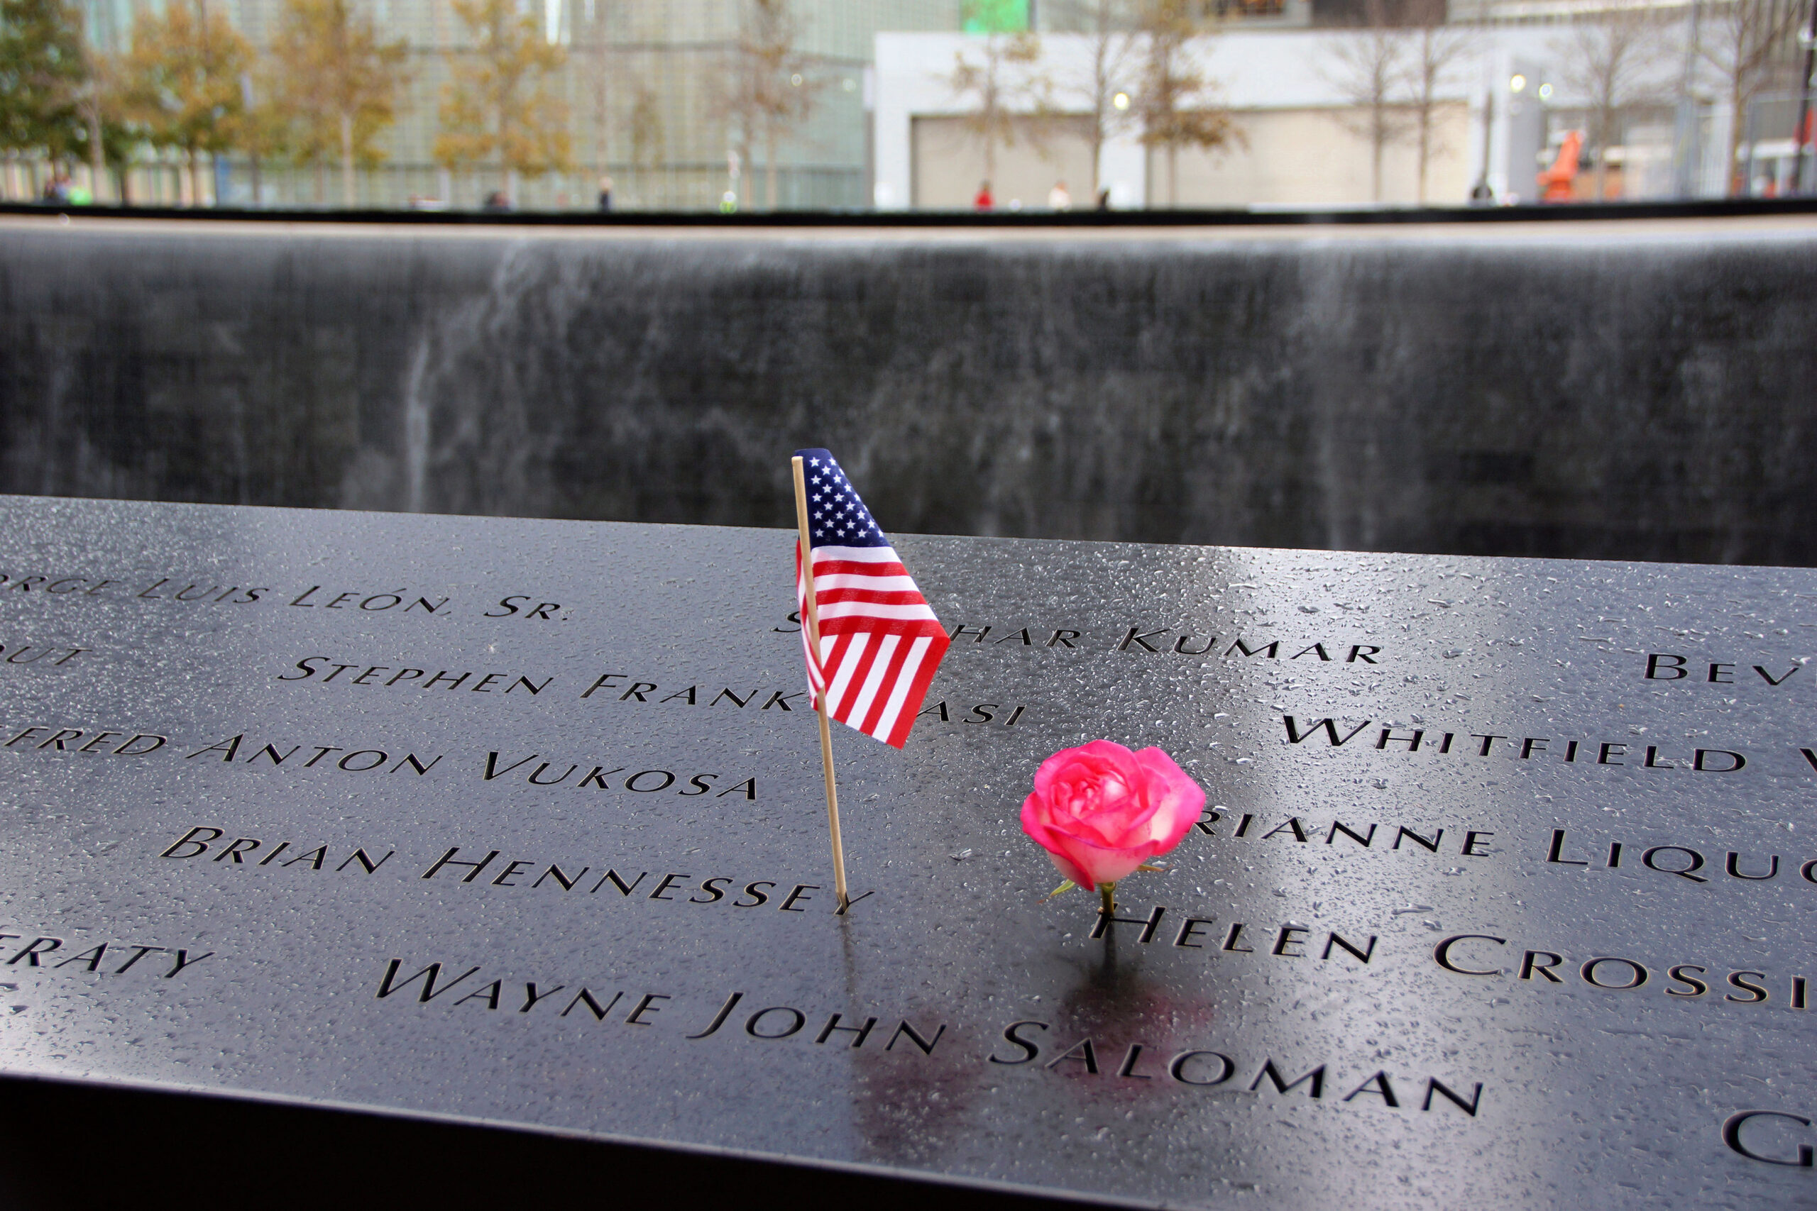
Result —
M1554 51L1564 84L1584 98L1601 202L1608 196L1608 149L1623 134L1624 113L1664 94L1659 69L1672 56L1672 27L1648 0L1621 0L1577 22Z

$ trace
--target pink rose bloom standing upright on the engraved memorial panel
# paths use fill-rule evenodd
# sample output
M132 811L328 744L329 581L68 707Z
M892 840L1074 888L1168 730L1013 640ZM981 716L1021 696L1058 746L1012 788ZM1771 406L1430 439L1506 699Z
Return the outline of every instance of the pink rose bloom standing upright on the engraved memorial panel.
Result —
M1205 792L1159 748L1063 748L1034 772L1023 832L1081 888L1110 886L1179 844Z

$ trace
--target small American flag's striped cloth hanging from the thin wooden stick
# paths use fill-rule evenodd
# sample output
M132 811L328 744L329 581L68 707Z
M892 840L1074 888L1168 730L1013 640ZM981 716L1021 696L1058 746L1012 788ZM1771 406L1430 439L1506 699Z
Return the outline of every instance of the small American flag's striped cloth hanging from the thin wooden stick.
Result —
M827 714L885 744L908 743L927 686L947 654L928 608L852 481L827 450L796 450L807 478L809 550L819 652L807 634L807 579L796 545L796 605L809 690Z

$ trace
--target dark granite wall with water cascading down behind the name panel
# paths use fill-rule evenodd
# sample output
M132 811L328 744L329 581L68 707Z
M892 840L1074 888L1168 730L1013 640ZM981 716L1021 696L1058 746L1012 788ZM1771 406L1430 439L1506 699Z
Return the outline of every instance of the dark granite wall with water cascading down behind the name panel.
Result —
M0 490L1817 563L1817 225L0 229Z

